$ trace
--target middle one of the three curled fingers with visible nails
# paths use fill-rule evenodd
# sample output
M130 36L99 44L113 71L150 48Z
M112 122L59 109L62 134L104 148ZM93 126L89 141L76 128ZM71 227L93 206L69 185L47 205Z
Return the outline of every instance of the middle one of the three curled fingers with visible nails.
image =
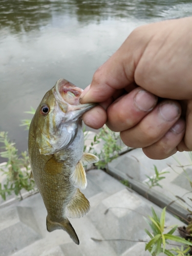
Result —
M177 101L164 100L136 126L121 132L122 141L130 147L146 147L157 142L181 115Z

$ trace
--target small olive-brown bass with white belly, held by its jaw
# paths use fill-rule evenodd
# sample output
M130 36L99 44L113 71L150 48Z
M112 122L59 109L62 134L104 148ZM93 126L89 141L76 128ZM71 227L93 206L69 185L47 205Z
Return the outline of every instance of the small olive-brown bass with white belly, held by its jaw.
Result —
M83 153L81 116L95 103L80 104L82 89L59 79L42 98L30 124L28 150L34 179L47 209L47 230L67 231L79 244L69 218L80 218L90 210L81 193L87 187L84 165L98 157Z

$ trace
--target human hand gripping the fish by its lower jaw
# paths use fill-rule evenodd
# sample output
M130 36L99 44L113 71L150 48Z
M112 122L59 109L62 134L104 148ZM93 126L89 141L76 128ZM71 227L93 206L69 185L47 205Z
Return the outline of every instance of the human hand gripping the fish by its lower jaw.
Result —
M153 159L192 150L191 29L192 17L135 29L82 93L81 103L100 102L84 122L106 122Z

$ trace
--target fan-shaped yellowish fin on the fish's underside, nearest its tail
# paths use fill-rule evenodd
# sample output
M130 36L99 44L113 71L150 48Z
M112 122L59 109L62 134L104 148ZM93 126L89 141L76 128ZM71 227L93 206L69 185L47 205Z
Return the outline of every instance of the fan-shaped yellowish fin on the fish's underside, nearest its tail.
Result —
M80 218L90 210L90 203L87 198L77 189L77 193L67 205L66 214L69 218Z

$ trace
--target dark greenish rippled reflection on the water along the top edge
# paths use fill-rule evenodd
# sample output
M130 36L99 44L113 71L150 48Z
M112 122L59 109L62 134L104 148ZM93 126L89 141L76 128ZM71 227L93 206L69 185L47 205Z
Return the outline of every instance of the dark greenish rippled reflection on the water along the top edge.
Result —
M9 1L0 2L0 28L9 27L11 32L28 32L49 24L53 15L77 16L79 23L100 22L109 17L133 17L150 19L161 17L162 11L175 5L191 3L189 0L157 1ZM179 13L175 16L179 17ZM168 17L167 17L168 18ZM172 18L172 17L170 17Z

